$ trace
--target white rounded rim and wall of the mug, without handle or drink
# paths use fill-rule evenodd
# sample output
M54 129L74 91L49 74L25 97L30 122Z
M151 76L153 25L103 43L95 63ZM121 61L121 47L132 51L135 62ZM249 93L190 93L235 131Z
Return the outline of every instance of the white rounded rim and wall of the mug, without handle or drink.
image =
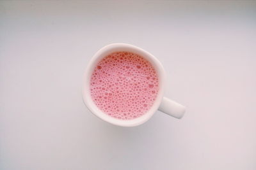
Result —
M97 63L99 63L99 61L102 58L106 57L106 55L109 55L110 53L113 53L113 52L120 52L120 51L137 53L141 57L147 59L150 62L150 64L152 64L152 66L154 66L154 68L156 69L158 80L159 80L159 91L157 93L156 101L154 102L154 104L147 111L147 113L145 113L144 115L138 118L134 118L131 120L121 120L121 119L113 118L107 115L95 105L95 103L92 100L92 96L90 95L90 79ZM113 124L113 125L133 127L133 126L141 125L147 122L147 120L149 120L157 111L163 99L164 84L165 84L164 68L161 62L159 62L159 60L157 60L156 57L154 57L154 55L139 48L138 46L129 45L125 43L112 43L100 48L100 50L97 51L95 55L93 55L92 59L90 59L90 62L88 63L83 76L83 87L82 87L83 101L84 101L84 104L87 106L87 108L90 111L92 111L93 115L101 118L102 120L109 122L110 124Z

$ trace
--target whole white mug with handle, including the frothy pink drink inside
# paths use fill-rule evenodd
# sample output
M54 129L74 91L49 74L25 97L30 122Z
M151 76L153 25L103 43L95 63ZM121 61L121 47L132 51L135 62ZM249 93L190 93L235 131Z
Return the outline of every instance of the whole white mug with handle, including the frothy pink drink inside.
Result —
M152 54L137 46L115 43L101 48L84 73L83 101L97 117L132 127L156 110L181 118L185 107L163 97L166 75Z

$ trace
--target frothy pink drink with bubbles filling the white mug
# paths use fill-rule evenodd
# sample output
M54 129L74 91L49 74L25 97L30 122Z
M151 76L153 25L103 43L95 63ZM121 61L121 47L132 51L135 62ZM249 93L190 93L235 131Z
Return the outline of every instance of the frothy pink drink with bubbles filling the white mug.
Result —
M147 113L158 93L156 69L140 55L115 52L95 67L90 92L96 106L107 115L131 120Z

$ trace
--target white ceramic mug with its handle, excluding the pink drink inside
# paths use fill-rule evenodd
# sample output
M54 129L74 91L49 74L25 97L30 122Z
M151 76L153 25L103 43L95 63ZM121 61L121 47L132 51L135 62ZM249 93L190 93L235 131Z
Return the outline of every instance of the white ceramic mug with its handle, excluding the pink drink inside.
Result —
M156 101L150 108L150 110L147 111L144 115L138 118L134 118L132 120L120 120L117 118L110 117L106 113L103 113L93 102L92 96L90 94L90 79L93 73L93 70L95 69L95 66L97 66L97 63L106 55L109 55L113 52L118 51L126 51L126 52L132 52L137 53L138 55L141 55L141 57L144 57L147 59L152 66L157 71L157 74L159 76L159 92L156 97ZM176 103L175 101L172 101L166 97L163 97L164 95L164 85L166 84L166 74L164 72L164 68L162 64L159 62L159 60L154 57L151 53L146 52L145 50L134 46L134 45L128 45L124 43L114 43L111 45L104 46L101 48L90 60L88 66L86 67L86 71L84 73L84 79L83 79L83 101L84 104L88 107L94 115L101 118L102 120L105 120L106 122L109 122L114 125L120 125L125 127L132 127L136 125L143 124L147 122L147 120L152 117L152 115L156 112L156 110L162 111L163 113L166 113L167 115L170 115L175 118L182 118L185 113L185 107L182 106L179 103Z

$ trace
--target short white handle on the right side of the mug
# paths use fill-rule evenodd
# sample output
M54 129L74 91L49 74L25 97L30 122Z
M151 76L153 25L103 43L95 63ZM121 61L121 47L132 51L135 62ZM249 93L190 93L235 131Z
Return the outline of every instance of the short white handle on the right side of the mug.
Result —
M158 110L162 111L163 113L166 113L167 115L170 115L172 117L182 118L184 116L186 108L185 108L185 106L182 106L181 104L179 104L175 101L172 101L171 99L168 99L167 97L163 97Z

